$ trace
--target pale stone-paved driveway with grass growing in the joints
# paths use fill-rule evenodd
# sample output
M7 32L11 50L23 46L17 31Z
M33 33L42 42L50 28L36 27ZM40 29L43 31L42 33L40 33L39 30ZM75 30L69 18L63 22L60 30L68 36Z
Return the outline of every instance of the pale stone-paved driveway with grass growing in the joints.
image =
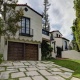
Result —
M0 80L78 80L74 71L50 61L14 61L0 64Z

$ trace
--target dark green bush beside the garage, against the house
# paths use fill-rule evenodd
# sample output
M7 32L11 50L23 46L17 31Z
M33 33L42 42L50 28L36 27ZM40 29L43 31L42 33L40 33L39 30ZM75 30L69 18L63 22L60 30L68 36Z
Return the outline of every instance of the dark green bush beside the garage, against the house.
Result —
M41 44L42 59L51 57L52 51L53 48L51 47L51 45L48 44L46 41L43 41Z

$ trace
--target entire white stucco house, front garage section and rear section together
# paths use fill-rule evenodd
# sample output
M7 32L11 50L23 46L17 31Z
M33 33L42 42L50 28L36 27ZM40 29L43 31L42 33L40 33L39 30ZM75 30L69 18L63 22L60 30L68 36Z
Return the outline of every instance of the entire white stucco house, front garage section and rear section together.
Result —
M41 60L41 43L44 40L53 47L53 54L57 52L56 47L68 50L69 40L62 37L59 31L49 32L49 29L42 28L43 16L40 13L27 4L16 6L24 10L19 22L21 29L15 36L1 36L0 51L4 60Z

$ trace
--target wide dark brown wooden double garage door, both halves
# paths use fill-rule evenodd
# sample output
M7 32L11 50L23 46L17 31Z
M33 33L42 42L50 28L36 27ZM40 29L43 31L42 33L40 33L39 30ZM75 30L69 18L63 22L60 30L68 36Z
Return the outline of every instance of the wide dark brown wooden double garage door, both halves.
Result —
M38 45L8 42L8 60L38 60Z

